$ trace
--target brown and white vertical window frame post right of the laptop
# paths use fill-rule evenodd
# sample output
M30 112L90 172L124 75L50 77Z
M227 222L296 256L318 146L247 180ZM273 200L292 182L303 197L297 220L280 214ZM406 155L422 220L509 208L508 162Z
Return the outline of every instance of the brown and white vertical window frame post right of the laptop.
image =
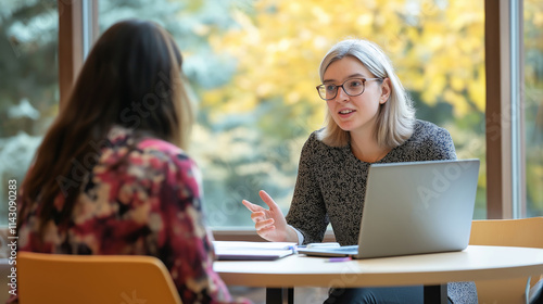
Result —
M488 219L526 217L522 15L522 1L484 1Z

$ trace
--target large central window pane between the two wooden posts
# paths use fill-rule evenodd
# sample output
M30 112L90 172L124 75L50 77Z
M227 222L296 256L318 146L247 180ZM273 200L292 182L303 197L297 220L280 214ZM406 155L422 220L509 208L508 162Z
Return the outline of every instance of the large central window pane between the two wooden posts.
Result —
M346 37L380 45L418 117L447 128L458 157L481 160L475 217L485 217L482 0L100 2L102 29L131 16L164 25L186 56L209 225L252 227L241 200L262 203L261 189L288 211L300 151L326 113L318 65Z

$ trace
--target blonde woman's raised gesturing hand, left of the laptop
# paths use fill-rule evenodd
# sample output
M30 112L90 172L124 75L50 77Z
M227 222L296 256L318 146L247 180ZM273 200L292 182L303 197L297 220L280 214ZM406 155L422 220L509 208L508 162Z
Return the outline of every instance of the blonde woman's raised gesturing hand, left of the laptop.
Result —
M298 235L292 227L287 225L279 206L264 190L258 192L261 199L268 205L269 210L263 208L249 201L243 200L243 205L250 210L251 219L255 223L256 233L263 239L272 242L296 242Z

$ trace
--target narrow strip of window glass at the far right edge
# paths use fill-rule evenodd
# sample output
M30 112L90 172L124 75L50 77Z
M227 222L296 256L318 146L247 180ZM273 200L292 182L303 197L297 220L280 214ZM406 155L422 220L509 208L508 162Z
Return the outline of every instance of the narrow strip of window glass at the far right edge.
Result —
M543 216L543 2L525 1L526 213Z

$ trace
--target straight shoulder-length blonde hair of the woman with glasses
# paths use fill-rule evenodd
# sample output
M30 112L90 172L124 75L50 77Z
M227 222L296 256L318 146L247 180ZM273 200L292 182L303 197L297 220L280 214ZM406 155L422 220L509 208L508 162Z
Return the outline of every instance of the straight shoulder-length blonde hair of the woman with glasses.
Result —
M394 73L390 59L376 43L363 39L346 39L336 43L320 62L320 81L328 66L345 56L357 59L375 77L389 78L391 94L381 104L377 116L375 137L382 147L394 148L404 143L412 135L415 125L415 109L407 92ZM343 147L350 141L350 132L342 130L327 112L325 128L318 138L331 147Z

